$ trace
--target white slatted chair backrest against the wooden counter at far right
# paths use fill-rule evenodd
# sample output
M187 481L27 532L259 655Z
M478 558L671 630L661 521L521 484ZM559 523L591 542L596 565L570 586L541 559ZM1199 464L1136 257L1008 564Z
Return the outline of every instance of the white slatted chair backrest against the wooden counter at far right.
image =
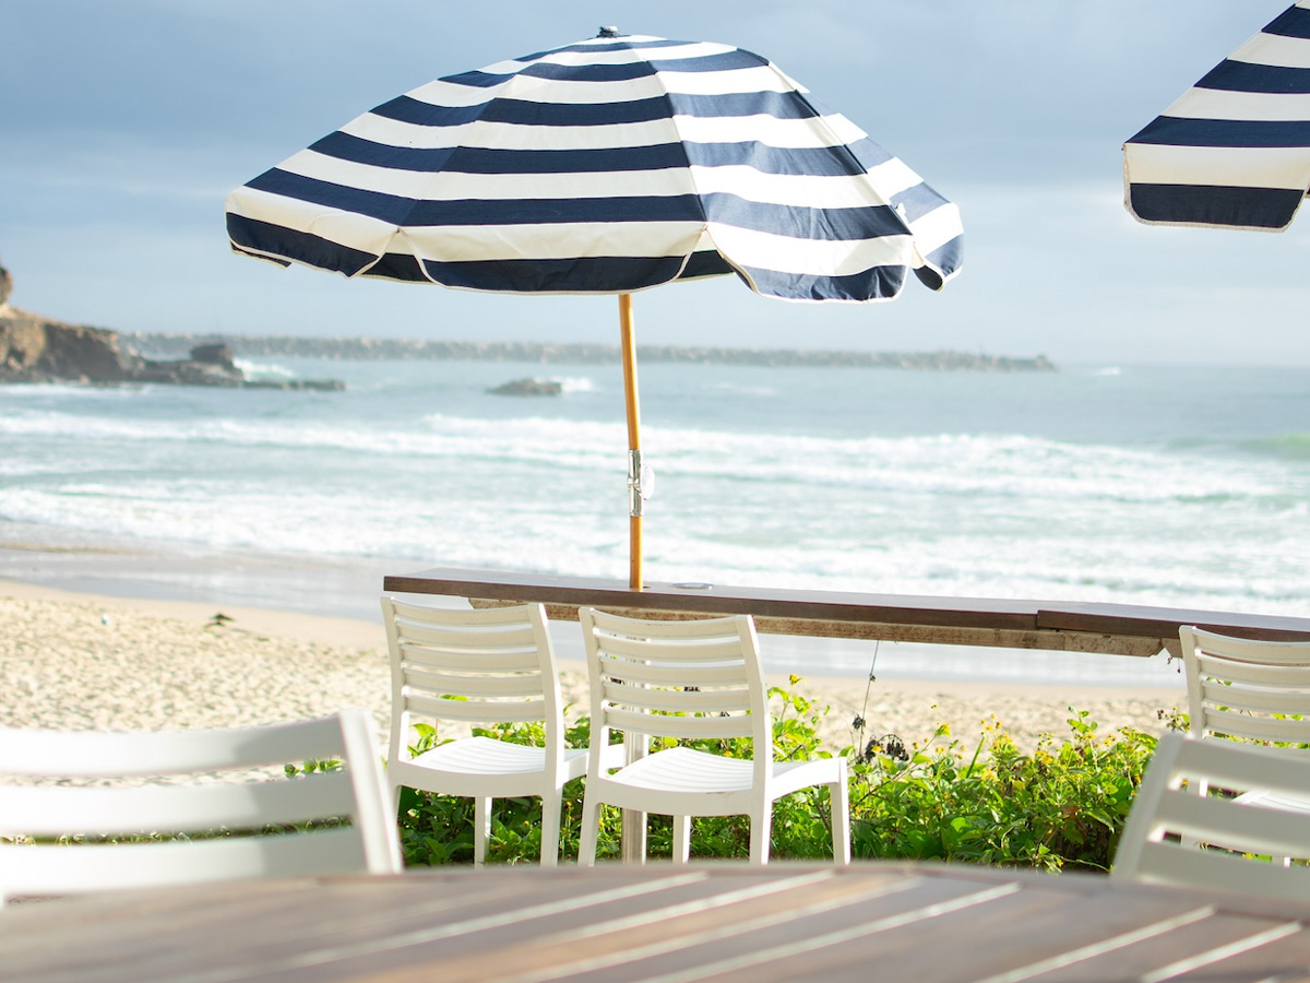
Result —
M1310 743L1310 642L1230 638L1189 625L1178 637L1192 734Z

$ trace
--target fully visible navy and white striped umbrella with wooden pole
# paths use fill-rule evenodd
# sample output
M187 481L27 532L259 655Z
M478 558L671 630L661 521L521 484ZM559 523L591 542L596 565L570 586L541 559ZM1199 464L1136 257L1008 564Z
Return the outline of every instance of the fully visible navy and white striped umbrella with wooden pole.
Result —
M612 28L364 113L232 191L227 223L238 253L346 277L618 295L634 588L631 294L736 275L783 300L889 300L962 261L958 208L768 59Z

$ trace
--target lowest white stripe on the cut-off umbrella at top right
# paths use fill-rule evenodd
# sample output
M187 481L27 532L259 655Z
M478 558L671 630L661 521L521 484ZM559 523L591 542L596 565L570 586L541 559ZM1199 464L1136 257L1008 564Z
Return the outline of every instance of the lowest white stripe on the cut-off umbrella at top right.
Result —
M1131 183L1310 187L1310 153L1303 147L1124 145Z

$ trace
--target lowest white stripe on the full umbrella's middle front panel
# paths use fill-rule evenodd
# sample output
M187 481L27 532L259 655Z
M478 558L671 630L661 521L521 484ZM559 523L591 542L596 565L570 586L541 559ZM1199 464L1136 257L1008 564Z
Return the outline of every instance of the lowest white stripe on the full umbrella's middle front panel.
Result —
M441 262L688 256L700 222L561 225L434 225L406 229L415 256Z

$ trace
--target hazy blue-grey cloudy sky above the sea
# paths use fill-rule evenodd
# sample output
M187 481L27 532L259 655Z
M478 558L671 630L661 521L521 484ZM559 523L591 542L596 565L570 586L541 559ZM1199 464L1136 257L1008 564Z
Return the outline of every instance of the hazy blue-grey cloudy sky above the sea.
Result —
M123 332L617 343L613 298L347 280L233 254L227 193L432 79L629 34L769 58L960 207L935 294L635 299L638 343L1310 366L1310 216L1136 223L1124 140L1290 0L5 0L0 263L14 307Z

